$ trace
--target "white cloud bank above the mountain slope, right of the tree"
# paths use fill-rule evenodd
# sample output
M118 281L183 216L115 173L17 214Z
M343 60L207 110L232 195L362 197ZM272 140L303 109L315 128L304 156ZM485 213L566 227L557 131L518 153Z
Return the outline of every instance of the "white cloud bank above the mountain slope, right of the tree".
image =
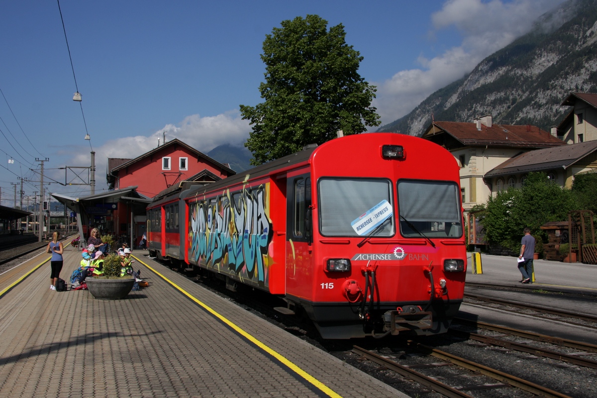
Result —
M563 0L449 0L432 14L431 36L454 27L461 45L427 60L418 58L421 69L402 70L377 85L374 106L382 124L414 109L434 91L469 73L481 60L529 32L533 21Z

